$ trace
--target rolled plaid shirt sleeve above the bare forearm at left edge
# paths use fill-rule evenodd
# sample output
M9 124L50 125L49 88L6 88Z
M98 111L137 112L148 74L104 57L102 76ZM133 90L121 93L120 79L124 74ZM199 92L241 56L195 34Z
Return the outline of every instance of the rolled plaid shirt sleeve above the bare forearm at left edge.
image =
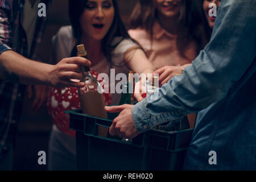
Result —
M0 54L7 50L12 50L11 5L12 1L0 0Z

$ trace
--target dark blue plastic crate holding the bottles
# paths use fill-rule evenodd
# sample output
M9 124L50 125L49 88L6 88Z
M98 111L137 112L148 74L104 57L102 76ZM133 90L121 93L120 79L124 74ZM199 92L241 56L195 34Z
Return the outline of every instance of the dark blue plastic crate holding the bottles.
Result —
M77 169L92 171L181 170L193 129L166 132L152 129L131 142L118 137L100 137L98 126L110 127L113 116L102 119L65 111L70 129L76 130Z

